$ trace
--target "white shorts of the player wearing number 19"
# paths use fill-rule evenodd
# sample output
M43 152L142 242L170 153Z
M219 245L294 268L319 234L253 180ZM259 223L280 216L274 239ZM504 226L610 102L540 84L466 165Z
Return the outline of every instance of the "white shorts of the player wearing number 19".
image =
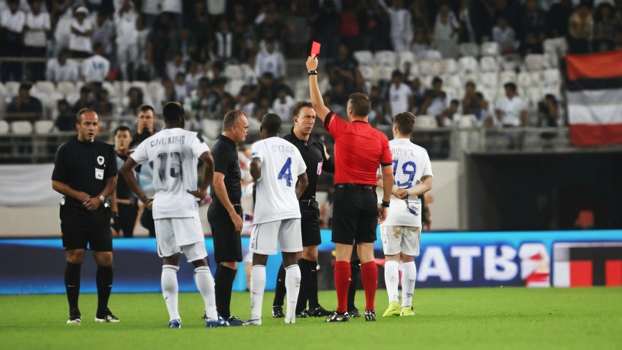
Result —
M380 236L383 240L384 255L404 253L413 257L419 256L421 227L381 226Z

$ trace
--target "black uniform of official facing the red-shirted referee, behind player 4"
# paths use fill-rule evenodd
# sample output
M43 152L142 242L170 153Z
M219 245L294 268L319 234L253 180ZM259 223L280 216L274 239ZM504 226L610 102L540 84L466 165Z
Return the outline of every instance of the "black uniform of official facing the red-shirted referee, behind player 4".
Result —
M312 245L320 245L322 244L322 236L320 235L320 209L318 202L315 201L315 192L317 191L317 183L322 171L335 173L335 161L333 157L326 158L324 143L317 138L317 136L313 135L313 133L309 135L309 141L306 143L295 135L294 128L292 128L289 134L283 136L283 138L298 148L307 165L309 186L307 186L307 189L305 189L305 192L300 196L299 200L302 246L310 247ZM298 294L296 315L300 315L302 311L304 311L307 306L307 298L309 300L310 312L320 308L317 299L317 262L310 262L309 260L300 258L298 264L300 266L302 278L300 280L300 293ZM285 268L281 265L279 275L277 276L277 286L272 306L282 306L284 296Z

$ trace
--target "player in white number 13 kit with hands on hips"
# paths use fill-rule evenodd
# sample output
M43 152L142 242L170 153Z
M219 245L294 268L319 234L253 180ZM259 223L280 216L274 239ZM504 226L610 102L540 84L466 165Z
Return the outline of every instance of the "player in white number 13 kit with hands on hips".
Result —
M179 254L195 266L195 282L205 302L208 327L228 326L216 311L214 279L207 264L207 250L198 215L198 199L207 196L214 175L210 148L198 133L183 130L184 114L180 103L169 102L162 110L166 128L142 141L121 168L121 173L145 206L153 210L157 252L163 258L162 294L169 310L169 328L181 328L177 310L177 271ZM203 161L203 180L197 187L197 158ZM149 199L132 169L137 164L154 162L156 196Z

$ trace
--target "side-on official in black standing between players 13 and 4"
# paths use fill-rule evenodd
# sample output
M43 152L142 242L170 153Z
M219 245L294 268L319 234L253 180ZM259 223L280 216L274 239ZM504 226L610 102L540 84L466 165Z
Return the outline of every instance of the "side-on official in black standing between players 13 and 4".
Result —
M216 284L216 310L231 326L243 322L231 316L231 289L242 261L242 197L241 172L239 170L239 143L246 140L248 120L246 113L231 110L225 114L223 133L211 149L214 158L214 179L211 182L211 204L207 219L214 240L214 260L218 263L214 282Z

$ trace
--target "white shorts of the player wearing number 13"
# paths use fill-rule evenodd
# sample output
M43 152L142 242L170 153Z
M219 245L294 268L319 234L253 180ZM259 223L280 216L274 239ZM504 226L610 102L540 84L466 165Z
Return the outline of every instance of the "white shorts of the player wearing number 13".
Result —
M201 220L198 217L156 219L157 255L160 258L183 253L188 262L207 257Z

